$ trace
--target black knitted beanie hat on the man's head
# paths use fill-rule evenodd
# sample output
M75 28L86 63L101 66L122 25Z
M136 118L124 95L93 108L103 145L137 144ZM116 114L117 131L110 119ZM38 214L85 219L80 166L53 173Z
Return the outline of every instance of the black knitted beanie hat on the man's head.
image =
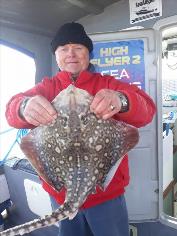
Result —
M64 46L68 43L78 43L88 48L89 52L93 50L92 40L86 34L84 27L75 22L66 23L57 31L51 42L52 53L55 54L58 46Z

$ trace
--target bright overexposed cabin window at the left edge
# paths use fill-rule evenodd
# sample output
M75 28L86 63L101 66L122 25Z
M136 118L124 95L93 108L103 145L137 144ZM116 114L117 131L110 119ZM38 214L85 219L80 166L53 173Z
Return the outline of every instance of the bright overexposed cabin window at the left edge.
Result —
M34 56L25 50L9 47L0 42L0 163L4 158L19 157L23 154L18 143L14 144L17 129L10 127L5 119L5 107L15 94L35 84Z

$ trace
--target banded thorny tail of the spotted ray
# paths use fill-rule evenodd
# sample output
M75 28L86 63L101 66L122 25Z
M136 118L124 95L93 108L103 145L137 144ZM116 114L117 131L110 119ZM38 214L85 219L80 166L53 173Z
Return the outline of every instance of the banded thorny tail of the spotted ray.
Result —
M39 219L35 219L25 224L4 230L0 232L0 236L24 235L36 229L47 227L47 226L55 224L58 221L64 220L70 215L73 215L76 211L77 209L73 209L73 208L71 209L71 207L67 203L65 203L59 209L52 212L52 214L46 215Z

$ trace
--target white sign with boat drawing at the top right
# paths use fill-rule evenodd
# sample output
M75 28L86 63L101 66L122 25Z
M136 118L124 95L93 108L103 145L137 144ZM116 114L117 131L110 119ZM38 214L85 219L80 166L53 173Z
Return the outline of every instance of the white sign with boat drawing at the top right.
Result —
M162 0L129 0L130 24L162 16Z

